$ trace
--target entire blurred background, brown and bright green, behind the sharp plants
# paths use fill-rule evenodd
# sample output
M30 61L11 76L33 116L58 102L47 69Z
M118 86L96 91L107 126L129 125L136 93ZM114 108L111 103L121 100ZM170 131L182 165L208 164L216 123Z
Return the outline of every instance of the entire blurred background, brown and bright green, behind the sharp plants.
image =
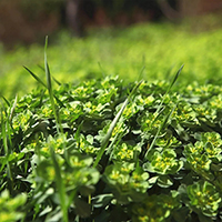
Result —
M143 65L164 79L182 63L184 79L205 81L222 73L221 28L221 0L0 0L0 93L30 91L22 65L41 74L46 36L60 81L134 81Z

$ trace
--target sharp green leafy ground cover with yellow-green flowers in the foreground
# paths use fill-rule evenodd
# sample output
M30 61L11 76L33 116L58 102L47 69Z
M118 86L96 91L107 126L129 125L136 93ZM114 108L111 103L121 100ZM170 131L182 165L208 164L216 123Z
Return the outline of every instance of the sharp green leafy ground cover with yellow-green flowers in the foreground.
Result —
M26 68L42 87L1 100L0 221L221 221L222 89L182 68L78 85L47 54L47 81Z

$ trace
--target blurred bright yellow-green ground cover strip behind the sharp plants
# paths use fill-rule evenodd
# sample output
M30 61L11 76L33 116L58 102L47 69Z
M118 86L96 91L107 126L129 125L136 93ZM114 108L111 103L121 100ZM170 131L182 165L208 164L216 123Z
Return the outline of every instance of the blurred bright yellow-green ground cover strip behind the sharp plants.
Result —
M83 39L73 39L61 32L57 39L50 37L48 57L51 71L60 82L77 83L101 78L102 73L118 74L132 82L145 65L143 79L152 81L168 80L170 70L174 73L185 62L181 77L184 84L191 79L200 83L206 79L219 79L222 75L222 30L201 32L201 22L196 23L192 31L184 23L144 23L99 32L92 30ZM44 78L42 46L36 43L16 49L6 51L0 48L0 94L6 98L13 98L18 92L24 94L37 87L38 83L22 65Z

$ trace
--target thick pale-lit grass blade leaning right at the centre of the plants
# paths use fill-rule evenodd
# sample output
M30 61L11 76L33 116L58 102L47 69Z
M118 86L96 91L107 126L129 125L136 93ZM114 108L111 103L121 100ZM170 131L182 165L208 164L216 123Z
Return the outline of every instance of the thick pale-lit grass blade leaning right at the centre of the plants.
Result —
M102 159L102 155L103 155L103 153L104 153L104 151L105 151L105 148L107 148L107 145L108 145L108 143L109 143L109 140L110 140L110 138L111 138L111 135L112 135L112 131L114 130L114 128L115 128L118 121L120 120L120 118L121 118L121 115L122 115L122 113L123 113L125 107L128 105L128 102L129 102L130 99L133 97L133 94L135 93L137 89L140 87L141 83L142 83L142 81L140 81L140 82L133 88L133 90L131 91L131 93L128 95L128 98L127 98L125 101L123 102L123 104L122 104L120 111L118 112L118 114L115 115L115 118L113 119L113 121L111 122L110 128L109 128L109 130L108 130L108 132L107 132L107 134L105 134L105 137L104 137L102 143L101 143L101 149L100 149L100 151L99 151L99 153L98 153L98 155L97 155L97 158L95 158L95 161L94 161L94 163L93 163L93 167L94 167L94 168L97 168L97 165L99 164L100 160Z

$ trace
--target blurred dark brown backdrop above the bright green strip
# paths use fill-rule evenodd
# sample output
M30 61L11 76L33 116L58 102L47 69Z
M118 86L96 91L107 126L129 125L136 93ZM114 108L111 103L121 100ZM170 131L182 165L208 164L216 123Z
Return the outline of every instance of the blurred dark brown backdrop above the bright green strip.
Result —
M90 27L221 12L222 0L0 0L0 41L32 43L61 29L82 37Z

